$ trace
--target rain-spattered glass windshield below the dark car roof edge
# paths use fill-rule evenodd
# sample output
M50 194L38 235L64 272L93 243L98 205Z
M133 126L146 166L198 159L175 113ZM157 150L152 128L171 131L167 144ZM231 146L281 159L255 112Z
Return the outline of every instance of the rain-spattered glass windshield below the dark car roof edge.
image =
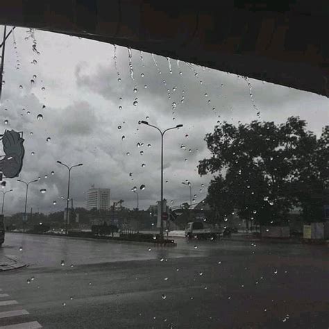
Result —
M328 328L328 98L27 28L3 60L0 327Z

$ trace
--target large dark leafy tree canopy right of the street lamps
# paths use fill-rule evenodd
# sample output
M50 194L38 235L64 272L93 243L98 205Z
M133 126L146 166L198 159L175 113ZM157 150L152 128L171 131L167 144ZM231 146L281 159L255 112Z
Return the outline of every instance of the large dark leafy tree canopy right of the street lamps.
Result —
M223 122L206 135L211 157L199 162L199 174L214 174L208 203L221 218L237 210L247 221L282 223L300 206L307 221L319 220L323 199L314 192L323 195L328 181L328 136L325 127L317 140L299 117Z

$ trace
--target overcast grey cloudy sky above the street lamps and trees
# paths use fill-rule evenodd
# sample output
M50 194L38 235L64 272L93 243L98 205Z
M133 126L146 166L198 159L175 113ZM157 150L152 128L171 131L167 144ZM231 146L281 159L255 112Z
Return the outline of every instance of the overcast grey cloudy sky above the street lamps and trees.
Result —
M6 43L0 128L1 132L6 128L24 132L26 154L19 178L41 178L30 185L28 210L64 208L61 196L67 194L67 169L56 160L67 165L83 162L83 167L71 171L75 206L85 206L85 192L91 185L110 188L111 203L124 199L129 208L136 205L131 192L135 186L141 209L160 200L160 133L139 125L139 120L162 129L184 125L165 135L164 195L173 206L189 201L189 188L181 184L185 180L192 183L196 203L204 199L211 176L201 178L196 166L209 155L204 137L217 120L281 123L299 115L317 134L328 124L329 101L324 96L250 79L251 99L247 82L235 74L191 68L176 60L170 61L170 74L167 58L154 56L157 67L150 53L143 53L141 60L140 51L135 50L133 80L126 48L117 47L118 76L111 44L35 31L37 55L32 38L25 40L26 31L16 28L16 45L12 35ZM37 119L40 114L42 120ZM14 192L6 194L5 214L24 211L25 186L16 178L6 182L5 190ZM146 188L140 190L140 185ZM40 189L47 192L42 194Z

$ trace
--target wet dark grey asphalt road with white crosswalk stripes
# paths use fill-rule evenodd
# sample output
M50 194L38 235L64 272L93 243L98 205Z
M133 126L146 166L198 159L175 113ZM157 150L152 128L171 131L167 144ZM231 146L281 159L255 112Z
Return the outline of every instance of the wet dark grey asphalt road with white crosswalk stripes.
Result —
M147 244L8 234L0 256L29 266L0 273L0 326L328 329L328 248L176 241L149 251ZM29 314L1 318L12 310Z

